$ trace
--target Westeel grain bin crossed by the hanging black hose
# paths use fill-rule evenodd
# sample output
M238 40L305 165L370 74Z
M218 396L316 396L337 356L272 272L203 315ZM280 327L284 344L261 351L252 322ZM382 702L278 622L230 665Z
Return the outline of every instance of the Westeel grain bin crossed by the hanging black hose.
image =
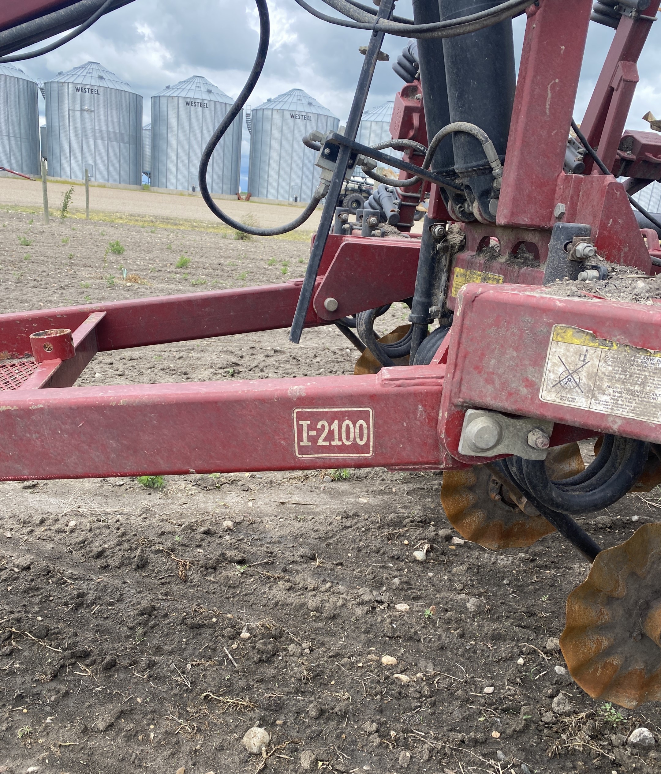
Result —
M209 138L233 100L211 81L194 75L152 97L152 186L197 190L197 170ZM243 111L211 156L212 194L236 194L241 167Z

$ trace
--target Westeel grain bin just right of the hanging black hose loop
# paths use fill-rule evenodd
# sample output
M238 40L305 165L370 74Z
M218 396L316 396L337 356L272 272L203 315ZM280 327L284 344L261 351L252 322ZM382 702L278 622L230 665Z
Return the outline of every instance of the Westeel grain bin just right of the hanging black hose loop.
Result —
M303 89L269 99L251 111L248 191L254 197L310 201L319 181L317 152L303 135L337 131L340 122Z

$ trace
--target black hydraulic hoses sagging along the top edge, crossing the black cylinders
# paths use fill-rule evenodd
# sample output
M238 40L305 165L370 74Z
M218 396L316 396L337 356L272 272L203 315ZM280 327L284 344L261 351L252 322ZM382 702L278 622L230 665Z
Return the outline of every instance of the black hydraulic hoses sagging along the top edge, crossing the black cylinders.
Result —
M399 24L387 19L375 20L367 12L361 12L353 4L346 0L323 0L326 5L330 5L334 10L344 14L346 19L340 19L337 16L329 16L314 9L306 0L296 0L296 3L307 12L316 16L324 22L331 22L342 27L351 27L352 29L368 29L375 33L388 33L406 38L450 38L468 33L478 32L480 29L493 26L505 19L524 12L529 5L534 5L534 0L506 0L494 8L486 9L478 13L467 16L461 16L459 19L448 19L444 22L435 22L433 24Z

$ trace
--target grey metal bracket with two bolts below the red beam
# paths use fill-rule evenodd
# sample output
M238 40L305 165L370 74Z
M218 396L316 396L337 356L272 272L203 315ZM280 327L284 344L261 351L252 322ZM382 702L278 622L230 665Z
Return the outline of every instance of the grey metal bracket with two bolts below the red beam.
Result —
M553 422L548 420L468 409L461 428L459 454L466 457L514 454L524 460L545 460L552 432Z

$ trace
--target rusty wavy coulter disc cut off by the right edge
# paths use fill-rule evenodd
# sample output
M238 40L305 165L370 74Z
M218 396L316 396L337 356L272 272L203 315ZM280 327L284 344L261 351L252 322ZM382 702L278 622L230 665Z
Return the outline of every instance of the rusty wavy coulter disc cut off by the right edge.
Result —
M593 699L635 709L661 700L661 524L601 551L567 598L560 648Z

